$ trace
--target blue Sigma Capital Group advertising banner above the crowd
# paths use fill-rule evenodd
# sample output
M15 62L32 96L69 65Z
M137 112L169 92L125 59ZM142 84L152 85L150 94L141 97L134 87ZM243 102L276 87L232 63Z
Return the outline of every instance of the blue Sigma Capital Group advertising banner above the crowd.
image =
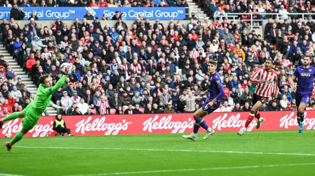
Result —
M60 17L61 20L74 20L91 11L91 15L101 19L103 14L106 14L109 19L115 15L115 11L124 13L124 20L135 20L142 13L143 18L150 20L183 20L185 19L185 7L24 7L25 18L28 20L35 11L39 20L56 20ZM0 19L10 18L11 7L0 7Z

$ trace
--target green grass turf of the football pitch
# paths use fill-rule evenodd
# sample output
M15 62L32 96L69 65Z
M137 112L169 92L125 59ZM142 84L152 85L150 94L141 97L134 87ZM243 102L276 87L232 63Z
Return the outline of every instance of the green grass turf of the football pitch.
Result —
M0 175L3 173L26 176L88 174L93 176L106 173L132 176L191 176L194 174L206 176L315 175L315 165L230 168L315 163L315 131L304 131L303 135L298 135L297 130L256 131L247 132L243 136L238 136L236 132L220 132L208 140L202 140L204 134L199 133L195 142L183 139L183 134L24 138L12 148L12 151L6 151L6 148L0 151ZM0 139L0 144L4 144L5 141L9 141L9 139ZM116 150L108 148L115 148ZM160 149L160 151L121 150L117 148ZM311 153L314 155L197 151ZM222 167L225 169L122 174L122 172Z

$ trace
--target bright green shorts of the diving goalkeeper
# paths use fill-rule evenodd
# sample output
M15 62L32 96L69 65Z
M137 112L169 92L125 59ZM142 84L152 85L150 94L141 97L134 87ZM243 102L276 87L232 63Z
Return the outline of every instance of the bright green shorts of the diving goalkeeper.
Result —
M32 108L32 104L29 104L23 111L24 119L22 120L22 126L26 130L31 130L38 122L40 115L36 115Z

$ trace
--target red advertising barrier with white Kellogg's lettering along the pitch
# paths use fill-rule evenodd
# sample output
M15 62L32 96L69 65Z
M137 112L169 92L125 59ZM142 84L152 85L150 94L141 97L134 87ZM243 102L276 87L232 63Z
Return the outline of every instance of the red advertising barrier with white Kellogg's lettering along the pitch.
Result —
M260 112L266 121L258 130L297 130L295 111ZM220 131L238 131L245 125L249 112L212 113L205 117L207 124ZM315 111L305 113L304 129L315 129ZM192 114L141 114L141 115L94 115L63 116L71 133L79 135L117 135L117 134L150 134L150 133L183 133L192 132L194 120ZM15 135L21 128L22 119L6 122L0 137L5 134ZM25 137L44 137L52 130L54 116L40 118L37 125ZM253 120L248 131L255 129L257 121ZM205 132L204 129L200 130Z

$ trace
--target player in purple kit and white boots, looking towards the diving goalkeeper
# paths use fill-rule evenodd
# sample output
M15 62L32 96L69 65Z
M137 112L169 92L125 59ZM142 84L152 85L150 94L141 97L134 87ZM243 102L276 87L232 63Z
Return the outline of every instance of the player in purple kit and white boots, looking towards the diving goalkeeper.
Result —
M210 60L208 64L209 81L208 90L201 92L199 97L203 97L207 93L210 93L209 99L199 108L194 114L195 124L193 126L193 133L190 135L183 135L185 139L190 139L195 141L197 139L198 130L201 127L207 130L207 134L203 137L204 140L208 139L211 135L215 133L215 130L211 129L206 121L203 119L204 116L209 115L216 109L220 107L221 97L224 95L223 85L219 74L216 72L217 62Z

